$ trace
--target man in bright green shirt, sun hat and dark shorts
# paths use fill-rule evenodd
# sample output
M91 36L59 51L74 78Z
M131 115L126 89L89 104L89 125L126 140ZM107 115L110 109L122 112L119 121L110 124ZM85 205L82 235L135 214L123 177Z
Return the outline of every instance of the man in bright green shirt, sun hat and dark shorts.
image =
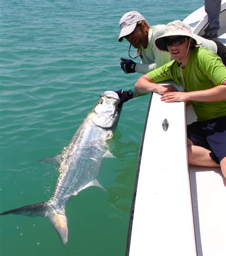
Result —
M140 77L134 87L141 93L157 92L165 102L190 102L197 121L187 126L189 164L220 166L226 177L226 67L218 56L224 58L226 47L217 55L194 46L199 43L185 22L168 23L155 45L174 60ZM157 84L166 80L182 85L184 92Z

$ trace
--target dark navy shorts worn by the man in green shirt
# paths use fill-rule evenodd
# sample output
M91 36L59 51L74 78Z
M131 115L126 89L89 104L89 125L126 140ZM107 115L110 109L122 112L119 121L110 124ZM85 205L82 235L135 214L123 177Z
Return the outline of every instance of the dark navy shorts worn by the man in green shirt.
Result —
M209 149L211 158L219 164L226 157L226 116L188 125L187 138L195 146Z

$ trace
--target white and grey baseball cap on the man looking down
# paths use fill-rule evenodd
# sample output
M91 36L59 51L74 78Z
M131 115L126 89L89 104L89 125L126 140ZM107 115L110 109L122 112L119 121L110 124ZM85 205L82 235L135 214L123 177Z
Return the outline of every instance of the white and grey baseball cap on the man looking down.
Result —
M139 11L129 11L126 12L121 20L119 21L120 34L119 42L123 41L123 37L132 33L136 27L138 21L144 21L144 16L140 14Z

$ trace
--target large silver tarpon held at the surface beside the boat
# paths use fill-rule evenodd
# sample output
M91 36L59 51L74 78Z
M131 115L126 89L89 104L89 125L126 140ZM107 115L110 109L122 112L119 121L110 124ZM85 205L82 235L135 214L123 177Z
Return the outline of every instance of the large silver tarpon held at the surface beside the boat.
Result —
M72 195L85 188L102 188L97 176L103 157L110 153L107 140L113 137L121 110L122 104L115 92L106 91L101 94L98 103L83 120L69 145L62 149L61 155L45 159L60 163L60 174L50 200L2 212L0 215L12 213L47 217L65 245L68 241L65 205Z

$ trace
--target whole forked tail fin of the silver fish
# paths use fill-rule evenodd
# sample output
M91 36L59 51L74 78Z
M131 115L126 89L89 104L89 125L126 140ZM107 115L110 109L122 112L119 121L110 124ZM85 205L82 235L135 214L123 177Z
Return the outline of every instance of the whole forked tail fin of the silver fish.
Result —
M51 224L55 228L57 234L60 236L63 245L67 244L68 241L68 224L67 217L65 215L65 210L61 210L60 213L57 213L54 209L51 208L47 203L35 203L20 208L12 209L0 213L0 215L7 214L19 214L29 217L47 217L49 218Z

